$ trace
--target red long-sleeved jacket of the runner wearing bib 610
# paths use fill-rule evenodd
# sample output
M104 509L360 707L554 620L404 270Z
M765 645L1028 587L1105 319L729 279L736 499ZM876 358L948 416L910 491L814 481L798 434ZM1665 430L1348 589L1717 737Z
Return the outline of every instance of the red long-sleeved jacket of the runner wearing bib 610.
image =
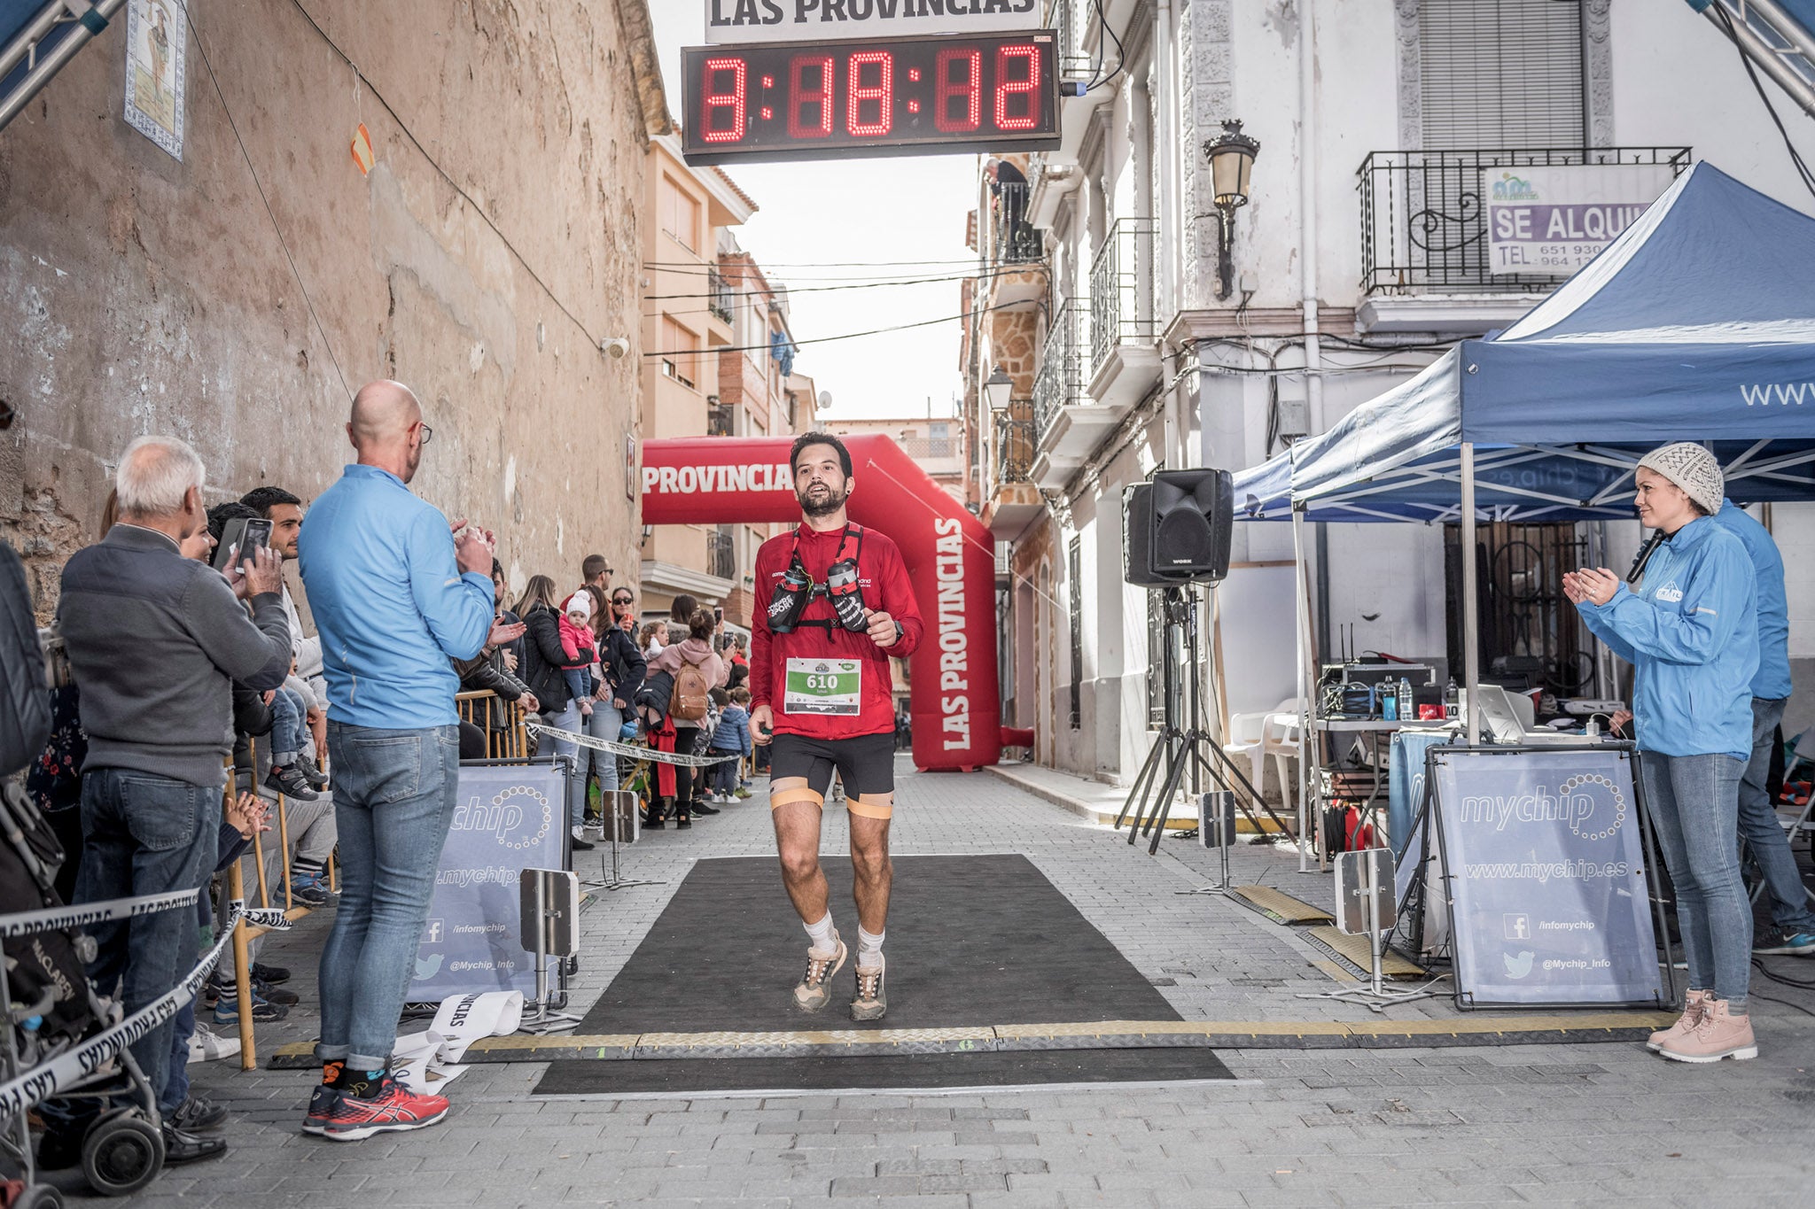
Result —
M871 613L888 613L902 627L902 640L882 649L869 640L869 634L853 634L839 625L831 602L815 596L800 614L800 625L791 633L770 633L768 607L775 596L775 584L793 560L795 542L800 549L800 564L815 584L826 582L826 567L840 558L857 558L857 584L864 591L864 607ZM813 740L849 740L860 734L889 734L895 730L895 694L889 672L891 658L908 658L920 645L926 624L920 620L920 605L913 598L913 584L908 580L908 567L893 540L864 529L848 526L819 533L808 526L793 533L771 537L757 551L755 571L755 614L750 624L750 703L768 705L775 712L777 734L800 734ZM829 624L829 629L824 625ZM831 656L840 660L864 660L864 689L860 712L851 714L784 714L780 707L780 685L788 660Z

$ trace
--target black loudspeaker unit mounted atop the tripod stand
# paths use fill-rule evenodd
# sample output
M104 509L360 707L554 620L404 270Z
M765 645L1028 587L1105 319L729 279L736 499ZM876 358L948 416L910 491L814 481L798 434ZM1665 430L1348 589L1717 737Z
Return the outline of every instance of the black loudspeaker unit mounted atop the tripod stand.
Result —
M1232 527L1227 469L1163 469L1123 495L1123 578L1138 587L1214 584L1229 575Z

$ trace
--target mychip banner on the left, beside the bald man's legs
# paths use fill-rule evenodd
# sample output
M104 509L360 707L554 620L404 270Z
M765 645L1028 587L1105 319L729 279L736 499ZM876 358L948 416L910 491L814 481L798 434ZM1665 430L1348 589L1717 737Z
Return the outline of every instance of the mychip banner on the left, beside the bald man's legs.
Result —
M535 995L535 957L517 943L517 879L526 868L563 868L564 769L461 765L410 1002L470 991Z

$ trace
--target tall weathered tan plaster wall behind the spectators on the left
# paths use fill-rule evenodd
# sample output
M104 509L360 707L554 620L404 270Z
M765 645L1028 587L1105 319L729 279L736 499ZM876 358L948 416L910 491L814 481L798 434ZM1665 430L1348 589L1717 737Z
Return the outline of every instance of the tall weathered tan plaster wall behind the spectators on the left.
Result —
M314 497L376 377L434 428L416 489L515 584L635 566L644 0L301 7L194 5L182 161L120 116L123 20L0 132L0 538L45 616L132 437L194 444L211 502Z

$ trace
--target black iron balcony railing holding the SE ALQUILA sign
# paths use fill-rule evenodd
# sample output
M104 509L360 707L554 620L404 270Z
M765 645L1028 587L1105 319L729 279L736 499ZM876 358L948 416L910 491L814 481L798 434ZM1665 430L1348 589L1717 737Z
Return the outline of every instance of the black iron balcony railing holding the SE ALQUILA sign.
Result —
M1361 161L1363 294L1532 294L1561 277L1488 272L1485 178L1497 169L1570 163L1690 167L1688 147L1376 150Z

